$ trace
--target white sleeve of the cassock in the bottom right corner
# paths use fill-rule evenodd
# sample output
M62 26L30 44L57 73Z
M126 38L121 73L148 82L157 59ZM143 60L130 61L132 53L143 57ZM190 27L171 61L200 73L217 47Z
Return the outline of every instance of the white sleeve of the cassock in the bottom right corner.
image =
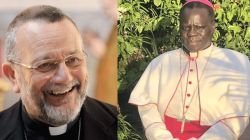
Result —
M249 122L248 117L221 120L210 127L199 140L237 140Z

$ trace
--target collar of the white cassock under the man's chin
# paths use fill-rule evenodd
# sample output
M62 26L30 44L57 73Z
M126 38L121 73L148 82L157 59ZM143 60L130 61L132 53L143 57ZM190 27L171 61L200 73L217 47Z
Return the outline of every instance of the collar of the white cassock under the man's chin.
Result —
M189 60L196 60L199 57L209 57L213 47L214 47L214 45L211 44L206 49L203 49L203 50L200 50L197 52L188 52L187 53L183 49L182 49L182 52L186 57L188 57Z

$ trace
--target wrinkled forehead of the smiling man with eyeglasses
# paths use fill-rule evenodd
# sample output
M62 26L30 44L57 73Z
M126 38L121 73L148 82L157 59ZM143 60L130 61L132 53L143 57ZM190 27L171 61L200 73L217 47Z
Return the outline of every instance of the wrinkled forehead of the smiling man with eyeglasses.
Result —
M71 23L40 23L27 22L17 31L17 49L30 49L30 59L82 51L81 35Z

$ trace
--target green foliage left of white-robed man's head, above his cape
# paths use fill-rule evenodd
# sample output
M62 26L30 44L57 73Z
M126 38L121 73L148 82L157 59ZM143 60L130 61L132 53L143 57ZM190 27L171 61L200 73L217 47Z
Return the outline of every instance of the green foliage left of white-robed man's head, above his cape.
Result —
M179 9L180 0L119 1L120 91L131 89L154 57L180 46Z

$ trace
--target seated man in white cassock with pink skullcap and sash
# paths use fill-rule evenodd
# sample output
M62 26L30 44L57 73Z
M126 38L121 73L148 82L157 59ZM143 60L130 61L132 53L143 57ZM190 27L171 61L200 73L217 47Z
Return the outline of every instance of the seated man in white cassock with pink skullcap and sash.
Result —
M248 124L249 59L213 45L208 0L188 0L179 17L183 47L149 64L129 102L148 140L236 140Z

